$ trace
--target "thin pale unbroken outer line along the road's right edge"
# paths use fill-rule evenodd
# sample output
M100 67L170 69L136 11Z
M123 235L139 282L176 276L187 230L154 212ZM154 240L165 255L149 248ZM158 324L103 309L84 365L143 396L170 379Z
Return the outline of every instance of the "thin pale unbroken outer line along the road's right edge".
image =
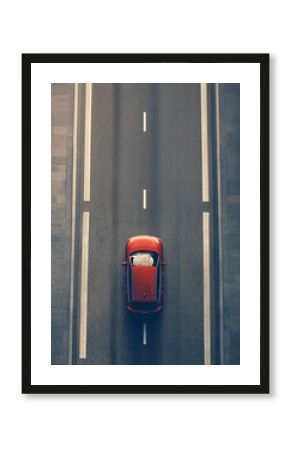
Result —
M218 194L218 238L219 238L219 322L220 322L220 364L224 364L224 292L223 292L223 234L222 234L222 188L221 188L221 145L220 145L220 107L219 84L215 85L216 105L216 157Z

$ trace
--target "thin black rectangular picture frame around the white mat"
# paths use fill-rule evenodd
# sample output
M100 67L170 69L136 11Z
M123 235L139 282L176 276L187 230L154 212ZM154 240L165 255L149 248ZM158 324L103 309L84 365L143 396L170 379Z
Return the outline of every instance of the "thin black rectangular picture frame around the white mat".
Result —
M31 384L31 65L34 63L256 63L260 65L260 384L172 386ZM23 54L22 155L22 393L269 393L269 54Z

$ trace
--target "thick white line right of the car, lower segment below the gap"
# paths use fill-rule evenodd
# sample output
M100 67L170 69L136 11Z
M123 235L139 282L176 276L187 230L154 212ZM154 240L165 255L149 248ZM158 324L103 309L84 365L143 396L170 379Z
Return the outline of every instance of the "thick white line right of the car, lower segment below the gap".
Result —
M204 364L211 364L210 333L210 214L202 213L203 235L203 325L204 325Z

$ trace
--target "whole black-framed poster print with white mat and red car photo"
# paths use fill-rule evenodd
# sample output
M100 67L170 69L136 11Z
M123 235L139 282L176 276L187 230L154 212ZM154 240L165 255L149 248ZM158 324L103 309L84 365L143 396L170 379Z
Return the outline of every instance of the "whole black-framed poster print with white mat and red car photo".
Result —
M24 54L23 393L269 392L269 55Z

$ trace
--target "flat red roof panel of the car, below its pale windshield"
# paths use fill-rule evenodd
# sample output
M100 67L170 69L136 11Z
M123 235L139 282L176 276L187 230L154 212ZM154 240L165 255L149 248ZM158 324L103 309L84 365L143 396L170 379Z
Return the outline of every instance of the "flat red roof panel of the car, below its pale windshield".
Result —
M157 267L132 267L132 300L152 302L157 300Z

